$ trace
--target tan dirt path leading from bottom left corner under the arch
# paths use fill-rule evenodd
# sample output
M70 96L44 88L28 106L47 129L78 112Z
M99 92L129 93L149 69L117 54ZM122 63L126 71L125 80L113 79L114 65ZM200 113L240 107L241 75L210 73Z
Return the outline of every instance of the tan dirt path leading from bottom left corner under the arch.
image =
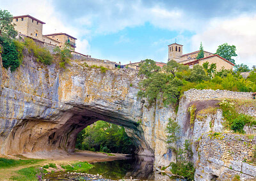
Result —
M124 154L113 154L115 156L109 156L108 154L103 154L100 152L91 151L79 151L72 154L67 154L67 152L37 152L36 154L22 154L24 157L31 159L45 159L40 163L36 164L26 164L22 166L15 166L12 168L0 168L0 180L9 180L13 175L17 175L16 171L27 168L30 166L43 166L44 164L55 163L55 164L65 164L72 161L87 161L88 163L97 163L102 161L114 161L117 159L126 159Z

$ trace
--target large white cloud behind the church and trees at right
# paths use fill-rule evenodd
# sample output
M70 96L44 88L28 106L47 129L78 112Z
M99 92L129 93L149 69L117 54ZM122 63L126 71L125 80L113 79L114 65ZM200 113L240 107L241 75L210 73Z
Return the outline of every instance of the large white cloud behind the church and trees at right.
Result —
M215 53L219 45L228 43L236 46L237 64L256 64L256 15L241 15L232 19L212 19L205 28L191 38L191 46L198 47L200 41L204 49Z

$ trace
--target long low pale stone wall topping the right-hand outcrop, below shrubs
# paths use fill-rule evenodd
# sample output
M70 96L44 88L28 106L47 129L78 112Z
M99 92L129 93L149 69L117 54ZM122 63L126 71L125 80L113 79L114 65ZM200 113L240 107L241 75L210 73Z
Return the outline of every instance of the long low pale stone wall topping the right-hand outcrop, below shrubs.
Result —
M253 99L253 92L234 92L227 90L211 90L211 89L190 89L184 92L187 99Z

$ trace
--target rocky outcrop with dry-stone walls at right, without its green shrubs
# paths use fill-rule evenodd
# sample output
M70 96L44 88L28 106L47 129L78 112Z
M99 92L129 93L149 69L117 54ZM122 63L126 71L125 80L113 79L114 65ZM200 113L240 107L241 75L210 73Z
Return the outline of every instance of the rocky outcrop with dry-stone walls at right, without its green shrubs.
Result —
M182 130L178 144L182 147L185 140L192 143L195 180L232 180L235 175L241 180L256 180L256 166L248 163L253 159L256 136L225 131L225 120L218 106L222 99L235 101L240 105L239 113L255 117L256 101L252 99L252 92L191 89L180 99L176 120ZM191 105L196 107L193 122L188 112ZM245 127L244 131L252 134L253 129Z

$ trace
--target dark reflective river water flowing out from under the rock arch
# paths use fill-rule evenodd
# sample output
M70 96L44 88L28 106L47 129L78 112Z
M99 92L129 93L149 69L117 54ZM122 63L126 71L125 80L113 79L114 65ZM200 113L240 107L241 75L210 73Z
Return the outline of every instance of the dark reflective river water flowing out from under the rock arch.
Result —
M56 172L47 175L47 180L170 180L170 177L154 171L154 158L136 156L129 159L94 163L94 167L84 173ZM102 176L102 177L100 177ZM178 179L174 179L178 180Z

